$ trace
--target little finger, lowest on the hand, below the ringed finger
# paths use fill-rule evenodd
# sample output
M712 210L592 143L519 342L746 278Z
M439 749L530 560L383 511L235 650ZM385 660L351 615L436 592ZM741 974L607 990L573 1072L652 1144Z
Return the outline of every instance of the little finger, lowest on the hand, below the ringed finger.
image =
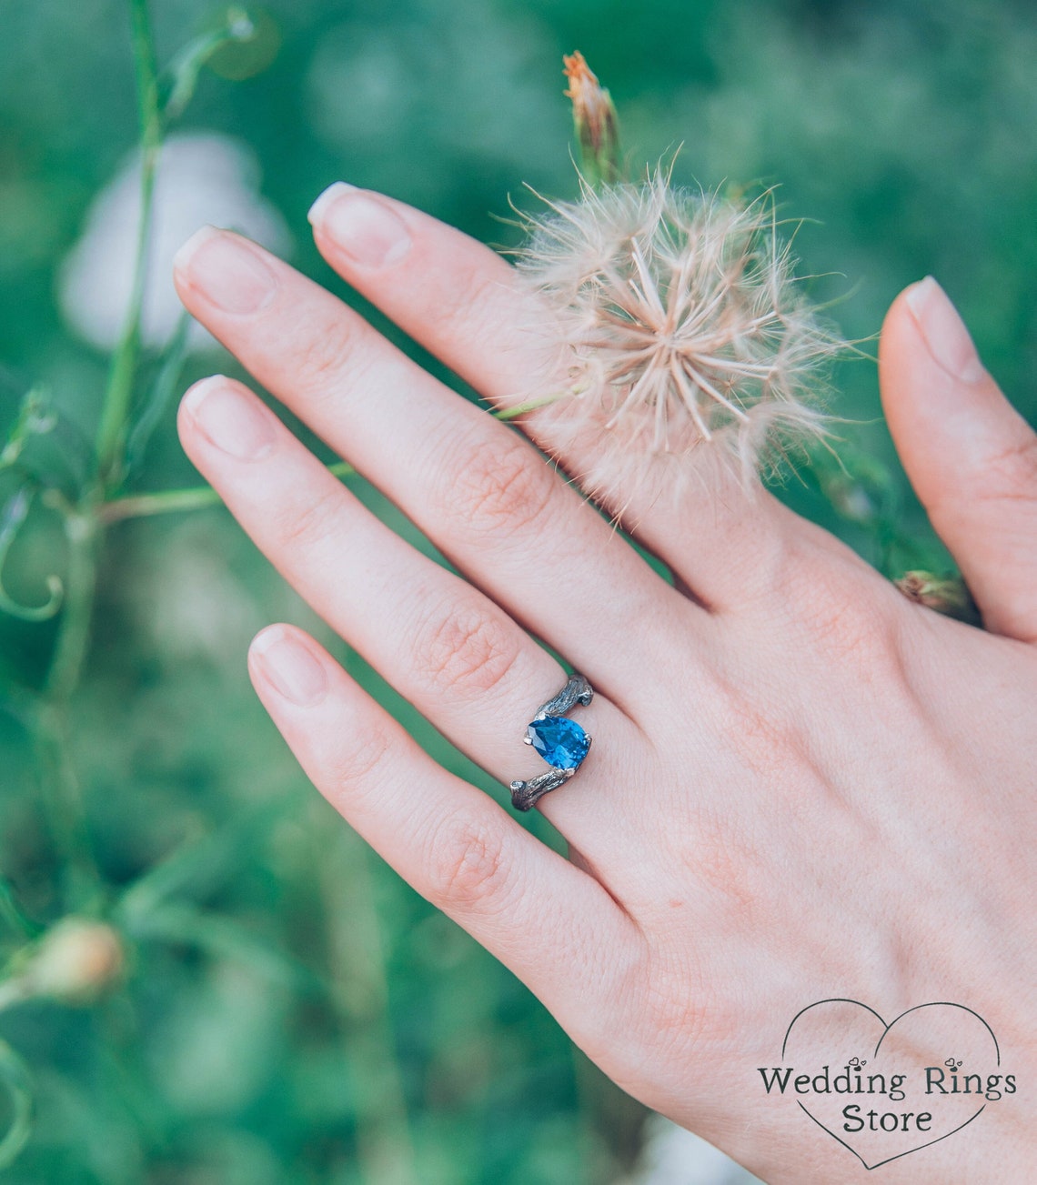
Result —
M570 1033L585 1031L582 1019L614 994L609 968L625 965L638 935L597 880L437 766L301 630L261 633L249 671L302 768L343 818Z

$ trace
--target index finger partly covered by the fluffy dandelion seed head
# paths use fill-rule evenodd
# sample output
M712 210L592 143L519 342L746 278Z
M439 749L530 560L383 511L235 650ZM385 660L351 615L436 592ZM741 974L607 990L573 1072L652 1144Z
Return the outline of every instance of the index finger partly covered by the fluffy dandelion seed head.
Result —
M328 263L488 399L513 406L564 389L536 333L543 309L494 251L403 203L341 185L325 191L311 219ZM550 419L532 414L523 427L549 453L562 450L577 476L594 463ZM646 486L604 505L715 608L756 598L800 524L758 486L747 499L723 465L700 467L661 497Z

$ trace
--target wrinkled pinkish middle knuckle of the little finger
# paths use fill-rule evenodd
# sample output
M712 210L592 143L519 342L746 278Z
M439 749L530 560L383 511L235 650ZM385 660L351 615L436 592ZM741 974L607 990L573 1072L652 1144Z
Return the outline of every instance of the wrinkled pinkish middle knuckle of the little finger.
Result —
M504 833L486 819L460 812L434 830L428 851L433 904L501 909L511 884Z

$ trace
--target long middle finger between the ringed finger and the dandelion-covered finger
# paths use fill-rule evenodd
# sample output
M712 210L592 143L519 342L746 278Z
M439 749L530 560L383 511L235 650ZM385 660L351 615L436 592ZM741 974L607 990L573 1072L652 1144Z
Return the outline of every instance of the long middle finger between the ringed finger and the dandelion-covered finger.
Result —
M513 616L597 684L601 638L687 602L513 430L236 235L181 250L187 308ZM608 595L595 595L608 571ZM646 647L652 638L642 639ZM658 646L665 664L667 647ZM622 688L626 693L627 688ZM628 706L628 705L625 705Z

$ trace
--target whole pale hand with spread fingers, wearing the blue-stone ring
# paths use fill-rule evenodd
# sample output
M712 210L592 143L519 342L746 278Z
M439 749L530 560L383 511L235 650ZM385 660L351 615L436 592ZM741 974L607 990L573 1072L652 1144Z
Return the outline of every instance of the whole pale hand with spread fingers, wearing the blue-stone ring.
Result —
M543 371L519 328L536 310L488 249L361 191L338 191L314 222L332 267L491 402ZM506 784L537 771L519 739L565 681L530 634L590 679L577 718L594 749L539 803L566 860L433 762L313 639L274 626L249 656L314 784L607 1074L799 1185L864 1173L760 1087L756 1068L779 1064L814 1000L888 1018L967 1004L1032 1097L1037 438L934 282L890 310L883 398L988 632L910 603L722 476L628 507L671 587L513 429L256 245L200 231L177 284L467 577L393 534L241 384L185 396L201 473L437 729ZM527 430L551 444L536 414ZM1020 1087L884 1180L1024 1179L1026 1098Z

